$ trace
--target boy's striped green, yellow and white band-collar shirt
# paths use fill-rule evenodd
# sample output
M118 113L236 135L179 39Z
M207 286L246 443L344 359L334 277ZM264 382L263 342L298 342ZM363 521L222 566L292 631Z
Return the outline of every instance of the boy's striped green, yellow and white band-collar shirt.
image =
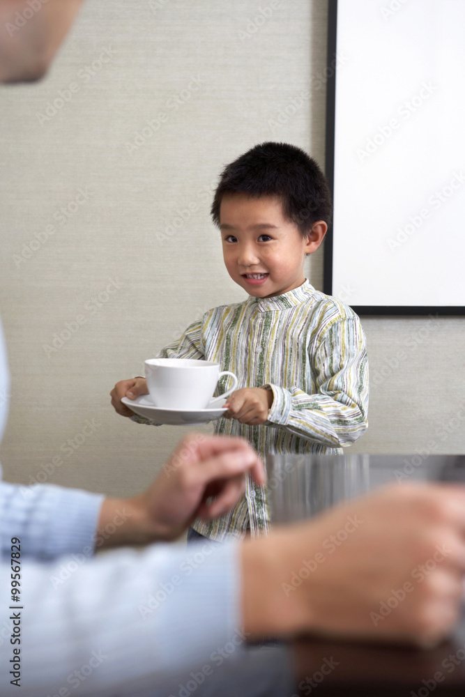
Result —
M243 436L268 454L339 454L367 429L368 362L358 316L305 282L274 298L214 307L163 358L213 360L238 377L238 387L269 385L273 404L259 426L219 419L215 433ZM222 378L215 394L227 390ZM252 537L268 530L266 491L247 480L244 498L215 521L192 526L206 537Z

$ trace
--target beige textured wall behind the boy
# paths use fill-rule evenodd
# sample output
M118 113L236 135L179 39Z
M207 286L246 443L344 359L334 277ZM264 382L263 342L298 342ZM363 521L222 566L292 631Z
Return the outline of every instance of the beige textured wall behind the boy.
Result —
M47 79L0 89L7 479L129 494L165 460L184 429L118 418L108 392L205 309L244 298L211 192L260 141L323 163L324 85L299 95L323 76L326 22L326 0L88 0ZM309 274L321 288L320 252ZM363 324L375 379L355 450L464 452L462 319Z

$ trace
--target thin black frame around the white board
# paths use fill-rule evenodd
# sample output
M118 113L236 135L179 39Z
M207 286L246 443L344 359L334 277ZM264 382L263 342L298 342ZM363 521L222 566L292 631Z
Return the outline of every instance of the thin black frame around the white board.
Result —
M334 197L335 112L336 112L336 49L337 49L337 0L328 0L328 81L326 82L326 176ZM333 70L330 70L334 66ZM333 294L333 224L325 238L323 260L323 293ZM353 305L357 314L371 315L429 315L462 316L465 307L451 305Z

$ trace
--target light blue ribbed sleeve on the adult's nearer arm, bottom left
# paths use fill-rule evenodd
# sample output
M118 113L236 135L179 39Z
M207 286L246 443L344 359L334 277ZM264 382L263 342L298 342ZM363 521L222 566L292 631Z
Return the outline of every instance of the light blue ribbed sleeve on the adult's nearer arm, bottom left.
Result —
M26 559L16 604L10 601L10 564L3 560L5 694L17 692L9 675L15 631L21 641L20 686L28 697L166 697L174 677L177 686L177 678L189 679L195 666L215 666L224 647L241 652L238 562L234 542L199 542L187 550L160 544L142 553L122 549L91 559L82 553L52 562Z

